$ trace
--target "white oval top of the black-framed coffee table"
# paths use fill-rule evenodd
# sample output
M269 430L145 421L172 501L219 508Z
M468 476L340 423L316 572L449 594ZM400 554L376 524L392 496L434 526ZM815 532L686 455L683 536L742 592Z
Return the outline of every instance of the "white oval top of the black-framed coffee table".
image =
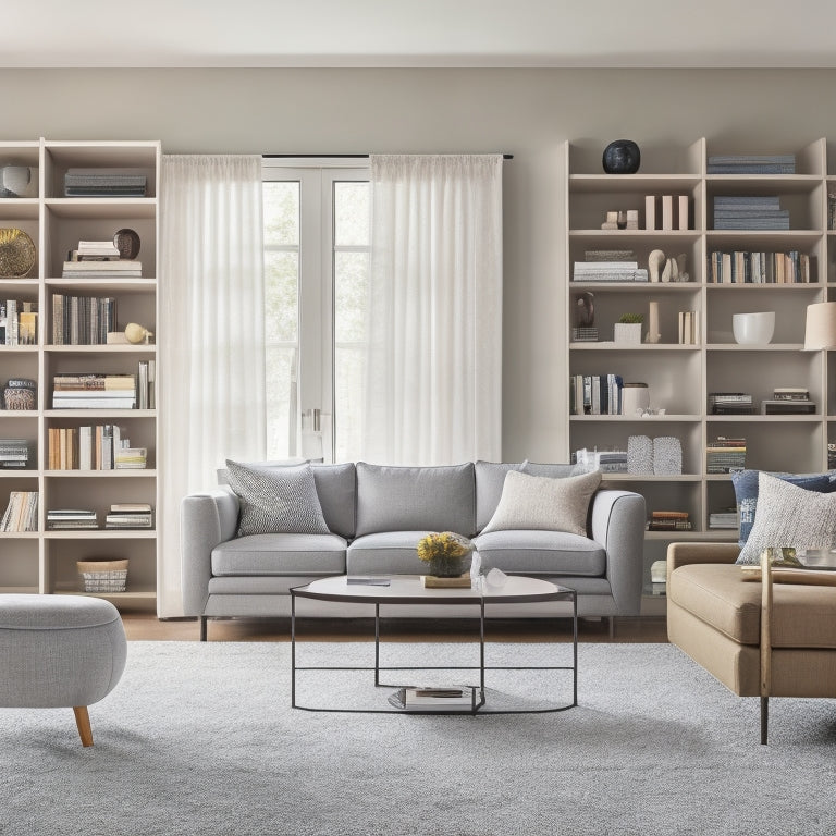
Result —
M377 578L377 576L374 576ZM502 586L489 585L484 577L478 578L468 588L426 588L420 575L380 576L377 579L389 580L388 586L378 583L349 583L345 575L320 578L304 587L296 587L293 594L320 601L348 601L367 604L477 604L482 599L489 603L517 603L534 601L554 601L571 594L571 590L560 587L549 580L527 578L517 575L506 576Z

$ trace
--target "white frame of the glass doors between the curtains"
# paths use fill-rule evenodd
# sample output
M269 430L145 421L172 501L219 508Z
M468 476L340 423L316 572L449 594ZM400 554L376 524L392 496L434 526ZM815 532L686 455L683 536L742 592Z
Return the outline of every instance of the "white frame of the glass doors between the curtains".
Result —
M361 157L265 157L261 163L263 182L299 183L298 403L291 423L299 439L302 417L319 410L325 462L333 462L335 450L334 184L369 176L368 158Z

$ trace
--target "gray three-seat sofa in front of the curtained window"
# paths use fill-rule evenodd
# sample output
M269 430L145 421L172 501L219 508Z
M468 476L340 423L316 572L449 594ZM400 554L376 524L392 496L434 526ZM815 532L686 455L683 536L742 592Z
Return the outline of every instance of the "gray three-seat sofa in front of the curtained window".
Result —
M586 616L638 615L642 586L644 500L598 490L587 536L550 530L482 533L518 470L561 478L570 465L467 463L452 467L385 467L365 463L312 465L330 533L237 537L238 497L225 484L184 497L181 508L182 588L186 616L286 616L292 587L332 575L426 574L416 543L428 531L474 538L484 570L546 577L578 593ZM224 471L219 471L224 481ZM306 610L302 608L305 605ZM299 615L368 616L359 604L299 601ZM496 605L501 617L553 616L555 604ZM394 608L394 607L393 607ZM471 607L410 606L408 617L472 615ZM502 612L499 612L502 610ZM398 613L394 613L398 615Z

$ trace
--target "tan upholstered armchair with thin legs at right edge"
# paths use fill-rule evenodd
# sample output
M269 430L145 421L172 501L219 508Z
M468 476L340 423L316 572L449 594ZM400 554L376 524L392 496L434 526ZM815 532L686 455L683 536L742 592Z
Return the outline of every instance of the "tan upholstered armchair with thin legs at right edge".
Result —
M745 581L733 543L672 543L667 636L738 697L836 697L836 587Z

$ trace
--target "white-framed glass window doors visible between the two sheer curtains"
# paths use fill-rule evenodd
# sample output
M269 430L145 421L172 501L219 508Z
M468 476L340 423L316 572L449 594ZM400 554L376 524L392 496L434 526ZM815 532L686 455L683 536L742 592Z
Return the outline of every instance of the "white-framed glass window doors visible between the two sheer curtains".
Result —
M268 456L357 457L370 243L366 168L266 159Z

